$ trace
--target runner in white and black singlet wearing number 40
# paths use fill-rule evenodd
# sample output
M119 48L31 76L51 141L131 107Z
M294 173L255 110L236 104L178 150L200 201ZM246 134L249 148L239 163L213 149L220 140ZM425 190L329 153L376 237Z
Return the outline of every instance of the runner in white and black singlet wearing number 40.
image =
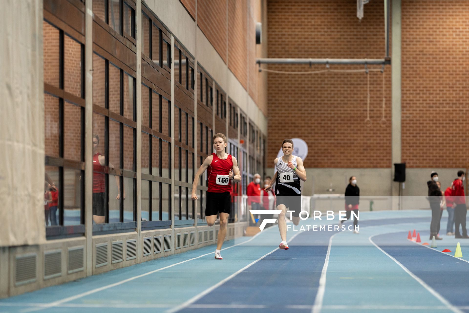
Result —
M279 231L282 242L279 244L280 249L288 250L287 244L287 223L285 214L292 216L295 225L300 223L301 212L301 185L300 179L306 181L306 171L303 167L303 160L293 155L293 141L285 139L282 143L283 156L274 160L276 172L272 180L265 187L265 191L272 188L275 181L275 195L277 196L277 210L282 212L279 214ZM287 215L290 216L290 215Z

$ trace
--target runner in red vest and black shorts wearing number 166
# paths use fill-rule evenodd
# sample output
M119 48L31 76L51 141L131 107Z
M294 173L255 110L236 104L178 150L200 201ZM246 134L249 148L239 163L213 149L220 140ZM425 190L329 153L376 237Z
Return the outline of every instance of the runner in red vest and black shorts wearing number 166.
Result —
M223 134L215 134L212 138L213 148L217 153L212 153L200 166L192 185L192 200L197 200L197 185L200 176L208 168L207 205L205 206L205 220L208 226L213 226L220 217L220 230L218 232L217 250L215 259L222 260L221 246L227 235L228 216L231 209L231 181L240 182L238 161L234 156L225 152L227 137Z

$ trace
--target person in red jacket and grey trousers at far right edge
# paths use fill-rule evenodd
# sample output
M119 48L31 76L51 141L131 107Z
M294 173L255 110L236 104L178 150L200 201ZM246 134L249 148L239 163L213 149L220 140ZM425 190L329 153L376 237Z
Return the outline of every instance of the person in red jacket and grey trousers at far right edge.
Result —
M466 229L466 197L464 196L464 172L458 171L458 178L456 178L452 185L452 198L453 198L453 207L454 207L454 238L469 238L468 231ZM459 232L459 225L462 228L462 236Z

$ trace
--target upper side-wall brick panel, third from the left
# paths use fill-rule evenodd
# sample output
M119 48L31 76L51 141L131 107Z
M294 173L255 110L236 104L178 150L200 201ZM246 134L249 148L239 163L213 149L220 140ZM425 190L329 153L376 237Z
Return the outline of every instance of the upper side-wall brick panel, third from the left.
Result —
M247 89L246 1L228 0L228 68Z

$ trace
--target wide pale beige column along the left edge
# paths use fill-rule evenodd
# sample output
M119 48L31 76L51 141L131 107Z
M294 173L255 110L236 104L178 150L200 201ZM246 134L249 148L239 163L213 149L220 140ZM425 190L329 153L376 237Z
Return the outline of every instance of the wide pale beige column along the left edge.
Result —
M0 245L45 241L42 0L0 11ZM3 213L2 213L3 211Z

